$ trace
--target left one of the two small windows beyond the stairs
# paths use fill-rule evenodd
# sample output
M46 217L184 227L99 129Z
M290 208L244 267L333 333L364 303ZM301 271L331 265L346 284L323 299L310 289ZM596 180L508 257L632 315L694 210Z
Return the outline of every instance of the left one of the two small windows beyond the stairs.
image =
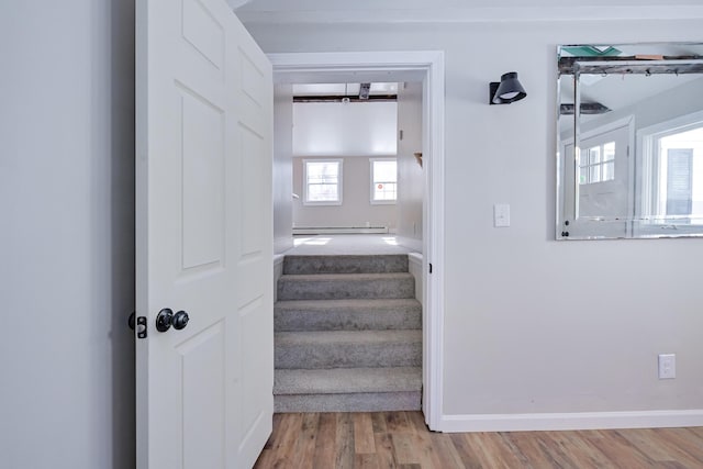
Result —
M342 159L304 159L305 205L342 205Z

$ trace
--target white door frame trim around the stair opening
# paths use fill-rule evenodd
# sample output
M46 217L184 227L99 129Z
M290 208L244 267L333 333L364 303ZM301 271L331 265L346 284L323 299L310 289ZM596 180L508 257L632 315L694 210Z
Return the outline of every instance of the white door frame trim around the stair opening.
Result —
M423 83L423 412L433 431L440 429L444 370L444 52L347 52L268 54L275 82L305 82L311 75L324 81L404 81ZM306 77L306 78L305 78ZM322 81L322 80L321 80ZM400 81L400 80L399 80ZM432 271L431 271L432 268Z

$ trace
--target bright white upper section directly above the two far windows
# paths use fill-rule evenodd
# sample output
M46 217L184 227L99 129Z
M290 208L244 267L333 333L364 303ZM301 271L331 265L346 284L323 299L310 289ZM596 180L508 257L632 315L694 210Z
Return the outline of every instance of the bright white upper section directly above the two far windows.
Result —
M297 102L293 155L395 156L397 104L373 102Z

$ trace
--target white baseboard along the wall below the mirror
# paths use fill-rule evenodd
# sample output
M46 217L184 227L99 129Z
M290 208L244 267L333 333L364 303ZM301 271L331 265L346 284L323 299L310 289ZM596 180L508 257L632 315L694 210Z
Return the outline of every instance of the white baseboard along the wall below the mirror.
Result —
M433 429L469 433L684 426L703 426L703 410L443 415Z

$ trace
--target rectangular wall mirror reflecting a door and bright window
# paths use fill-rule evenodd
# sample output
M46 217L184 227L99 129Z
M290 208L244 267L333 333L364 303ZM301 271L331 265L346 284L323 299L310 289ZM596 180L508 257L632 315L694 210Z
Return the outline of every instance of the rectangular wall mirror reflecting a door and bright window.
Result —
M703 236L703 44L558 48L557 238Z

